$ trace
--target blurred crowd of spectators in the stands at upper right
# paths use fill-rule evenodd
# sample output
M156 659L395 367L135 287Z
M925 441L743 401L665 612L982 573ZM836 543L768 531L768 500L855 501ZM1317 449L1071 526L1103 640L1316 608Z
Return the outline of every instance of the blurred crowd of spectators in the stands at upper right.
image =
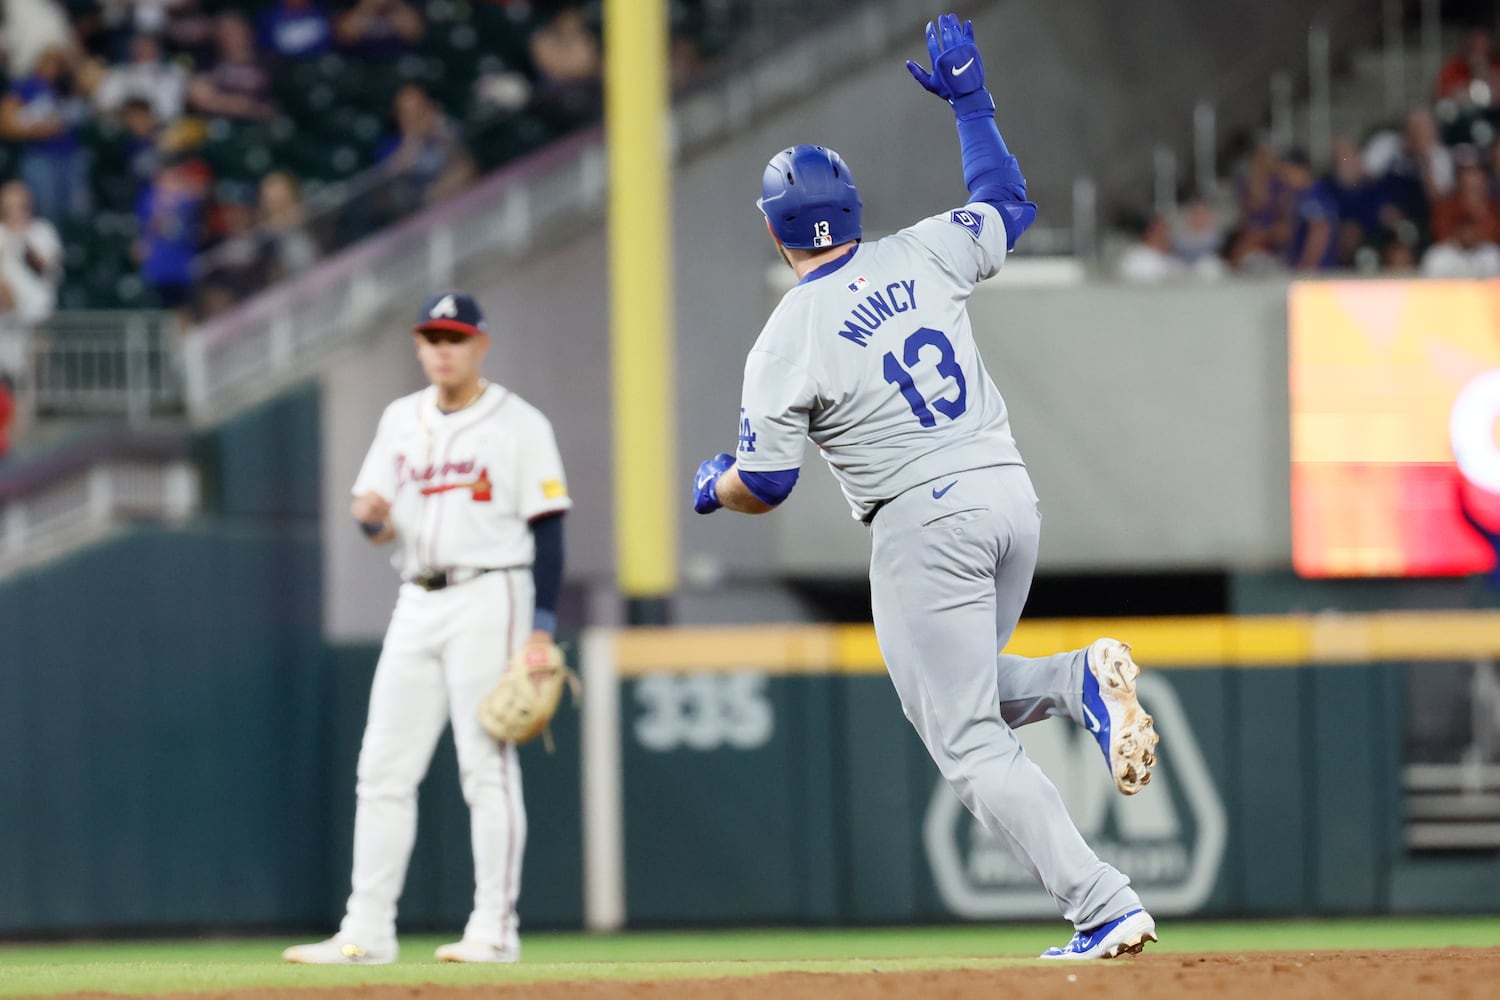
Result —
M1500 276L1500 54L1466 33L1431 102L1362 142L1341 136L1316 171L1305 150L1262 141L1234 177L1233 204L1194 196L1134 223L1116 261L1132 282L1230 274Z

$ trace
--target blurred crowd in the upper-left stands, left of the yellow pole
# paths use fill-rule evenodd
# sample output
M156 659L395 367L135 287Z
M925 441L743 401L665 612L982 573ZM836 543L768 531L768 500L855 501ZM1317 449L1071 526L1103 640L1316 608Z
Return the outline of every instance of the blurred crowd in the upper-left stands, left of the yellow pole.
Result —
M68 237L74 307L212 316L332 249L290 235L304 183L380 168L386 189L360 223L321 240L342 244L470 183L476 120L543 114L544 141L598 109L597 3L4 0L0 10L0 175L24 183ZM344 120L357 135L339 133ZM309 145L334 156L316 160ZM525 151L512 145L484 165ZM111 255L129 264L100 259Z

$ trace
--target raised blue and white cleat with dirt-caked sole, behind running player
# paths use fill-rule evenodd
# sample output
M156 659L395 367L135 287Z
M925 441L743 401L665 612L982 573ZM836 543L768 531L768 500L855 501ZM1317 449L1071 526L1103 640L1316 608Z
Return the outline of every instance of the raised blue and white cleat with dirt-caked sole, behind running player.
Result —
M1104 751L1104 762L1114 787L1136 795L1150 784L1156 766L1156 724L1136 699L1140 667L1131 660L1130 645L1116 639L1096 639L1088 652L1083 672L1083 720Z

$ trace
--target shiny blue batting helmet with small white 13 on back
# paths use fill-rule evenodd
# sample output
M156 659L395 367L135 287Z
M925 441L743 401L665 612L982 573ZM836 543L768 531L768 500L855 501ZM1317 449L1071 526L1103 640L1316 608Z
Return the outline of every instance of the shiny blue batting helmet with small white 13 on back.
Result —
M795 250L838 246L862 234L854 175L822 145L794 145L772 156L754 204L782 246Z

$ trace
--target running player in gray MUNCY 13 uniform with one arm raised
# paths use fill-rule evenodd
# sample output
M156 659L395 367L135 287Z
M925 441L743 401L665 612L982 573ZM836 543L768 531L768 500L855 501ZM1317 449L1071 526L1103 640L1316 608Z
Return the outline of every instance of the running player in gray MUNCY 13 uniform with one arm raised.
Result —
M870 525L874 630L906 717L944 777L1041 880L1077 934L1044 958L1112 958L1156 940L1130 880L1095 856L1011 727L1050 715L1090 729L1120 792L1155 765L1130 648L1100 639L1038 660L996 655L1036 564L1036 495L966 300L1035 205L994 124L974 25L927 25L928 73L958 121L969 202L861 243L860 196L819 145L765 169L765 213L798 283L746 361L738 456L699 466L694 510L765 513L796 483L804 441Z

